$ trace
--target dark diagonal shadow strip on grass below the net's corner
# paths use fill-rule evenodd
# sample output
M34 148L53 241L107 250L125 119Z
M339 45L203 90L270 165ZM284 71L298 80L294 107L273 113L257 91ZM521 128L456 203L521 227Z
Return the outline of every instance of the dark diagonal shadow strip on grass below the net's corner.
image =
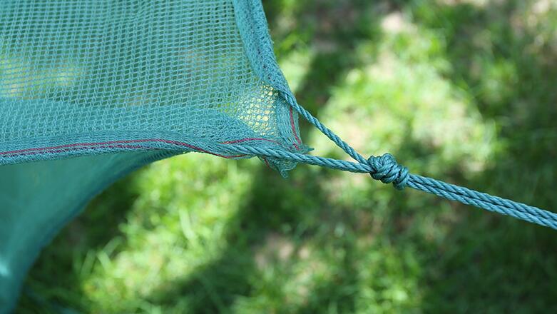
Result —
M305 211L294 206L292 199L284 198L287 193L295 193L300 199L312 195L310 203L323 203L320 191L311 184L293 188L292 182L277 181L277 174L260 171L255 175L253 189L247 194L246 205L228 223L226 236L228 246L208 265L203 265L188 278L178 278L166 283L164 288L150 294L151 303L175 306L180 296L188 296L188 313L226 312L239 297L246 297L254 288L253 278L257 278L256 251L265 241L283 233L284 226L295 226L300 216L308 215L307 210L316 214L318 208ZM309 182L317 178L306 178ZM296 189L296 192L292 190Z

